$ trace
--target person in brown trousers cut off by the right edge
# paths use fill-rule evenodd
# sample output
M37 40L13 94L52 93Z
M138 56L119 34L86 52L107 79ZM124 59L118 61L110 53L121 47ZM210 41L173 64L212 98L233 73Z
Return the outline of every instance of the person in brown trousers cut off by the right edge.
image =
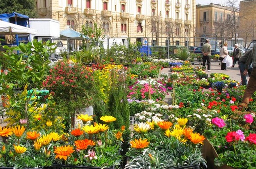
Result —
M245 105L249 104L250 98L256 91L256 44L254 44L252 48L252 67L252 73L242 99L242 103Z

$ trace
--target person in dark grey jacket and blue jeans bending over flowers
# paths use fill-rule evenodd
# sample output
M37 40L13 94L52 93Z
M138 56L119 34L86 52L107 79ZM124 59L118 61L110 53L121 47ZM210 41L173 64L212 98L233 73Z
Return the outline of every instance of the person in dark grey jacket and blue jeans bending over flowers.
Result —
M251 73L252 73L252 49L245 52L245 54L239 58L238 66L240 69L242 85L247 86L246 75L248 73L248 75L250 77Z

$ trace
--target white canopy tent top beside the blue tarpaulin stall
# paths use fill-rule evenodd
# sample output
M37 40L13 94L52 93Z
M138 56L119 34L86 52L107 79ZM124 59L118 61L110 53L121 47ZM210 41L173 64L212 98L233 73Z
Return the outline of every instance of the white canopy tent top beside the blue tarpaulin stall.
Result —
M37 30L28 27L0 21L0 35L10 34L37 34Z

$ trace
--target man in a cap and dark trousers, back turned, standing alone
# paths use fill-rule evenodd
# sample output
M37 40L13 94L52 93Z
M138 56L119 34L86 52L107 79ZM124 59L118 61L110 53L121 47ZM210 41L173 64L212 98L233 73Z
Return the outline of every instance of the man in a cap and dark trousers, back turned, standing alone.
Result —
M207 71L211 71L211 45L208 39L205 40L205 43L202 46L203 53L203 66L205 67L205 62L207 61Z

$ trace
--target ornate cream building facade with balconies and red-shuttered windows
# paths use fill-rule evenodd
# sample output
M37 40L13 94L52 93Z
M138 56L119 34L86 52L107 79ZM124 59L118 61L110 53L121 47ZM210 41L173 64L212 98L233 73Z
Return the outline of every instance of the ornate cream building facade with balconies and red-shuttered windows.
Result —
M41 18L60 22L61 30L80 31L97 23L107 37L194 37L195 0L37 0ZM158 40L157 40L158 41ZM161 44L160 44L161 45Z

